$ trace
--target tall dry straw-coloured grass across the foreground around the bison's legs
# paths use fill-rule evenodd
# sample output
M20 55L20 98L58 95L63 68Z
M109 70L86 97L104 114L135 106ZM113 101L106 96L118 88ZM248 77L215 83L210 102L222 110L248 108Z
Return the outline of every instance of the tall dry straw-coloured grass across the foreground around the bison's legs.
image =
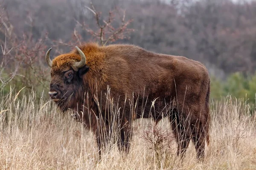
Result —
M151 120L134 124L131 152L120 156L117 147L97 162L95 136L90 130L63 114L52 102L35 101L34 93L23 99L15 95L1 97L0 169L256 169L255 116L248 106L230 98L212 104L211 143L204 163L196 161L190 143L183 164L176 157L175 141L159 158L143 135ZM166 132L169 122L157 125ZM173 136L170 136L173 138ZM164 149L164 148L163 148Z

